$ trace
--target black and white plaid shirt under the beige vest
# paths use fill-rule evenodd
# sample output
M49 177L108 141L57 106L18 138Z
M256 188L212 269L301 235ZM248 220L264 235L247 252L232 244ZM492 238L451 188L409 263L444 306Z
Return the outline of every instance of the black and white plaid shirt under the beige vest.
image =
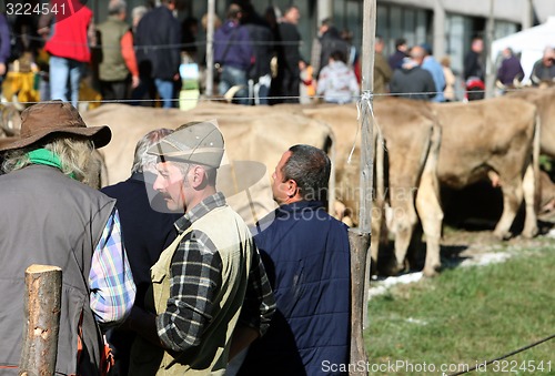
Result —
M204 199L175 222L179 233L215 207L225 197L216 193ZM252 258L241 324L264 333L275 311L275 301L260 254ZM222 284L222 258L206 234L194 231L179 244L171 263L170 299L165 312L157 316L158 335L174 350L198 346L213 317L214 301ZM254 312L253 307L256 306Z

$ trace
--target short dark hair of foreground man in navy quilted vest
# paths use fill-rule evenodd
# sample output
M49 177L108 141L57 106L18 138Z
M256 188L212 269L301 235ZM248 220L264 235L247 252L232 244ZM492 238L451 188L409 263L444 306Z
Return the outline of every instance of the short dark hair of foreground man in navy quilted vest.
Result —
M291 155L282 167L283 181L294 180L306 201L326 201L332 163L315 146L299 144L289 149Z

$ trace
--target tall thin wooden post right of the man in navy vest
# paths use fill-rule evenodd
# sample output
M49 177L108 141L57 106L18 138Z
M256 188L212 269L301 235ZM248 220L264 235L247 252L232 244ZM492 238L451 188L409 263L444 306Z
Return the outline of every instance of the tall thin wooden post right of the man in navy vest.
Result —
M351 245L351 376L367 375L369 369L356 365L367 364L364 346L364 327L367 322L367 289L370 287L370 240L372 217L373 135L370 124L372 91L374 87L374 43L376 28L376 0L364 0L362 26L362 129L361 129L361 183L359 230L349 232ZM353 368L353 369L351 369Z

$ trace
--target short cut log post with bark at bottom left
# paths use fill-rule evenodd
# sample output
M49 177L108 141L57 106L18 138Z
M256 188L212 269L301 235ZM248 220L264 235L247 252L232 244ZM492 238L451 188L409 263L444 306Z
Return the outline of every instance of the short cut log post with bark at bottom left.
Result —
M62 270L31 265L26 271L26 286L20 375L53 375L58 355Z

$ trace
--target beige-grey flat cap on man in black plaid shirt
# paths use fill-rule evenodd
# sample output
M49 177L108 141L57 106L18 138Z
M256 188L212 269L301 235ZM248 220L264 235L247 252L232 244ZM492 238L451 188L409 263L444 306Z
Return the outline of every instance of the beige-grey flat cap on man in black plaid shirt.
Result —
M148 153L168 161L220 167L224 152L223 135L211 122L182 125L149 149Z

